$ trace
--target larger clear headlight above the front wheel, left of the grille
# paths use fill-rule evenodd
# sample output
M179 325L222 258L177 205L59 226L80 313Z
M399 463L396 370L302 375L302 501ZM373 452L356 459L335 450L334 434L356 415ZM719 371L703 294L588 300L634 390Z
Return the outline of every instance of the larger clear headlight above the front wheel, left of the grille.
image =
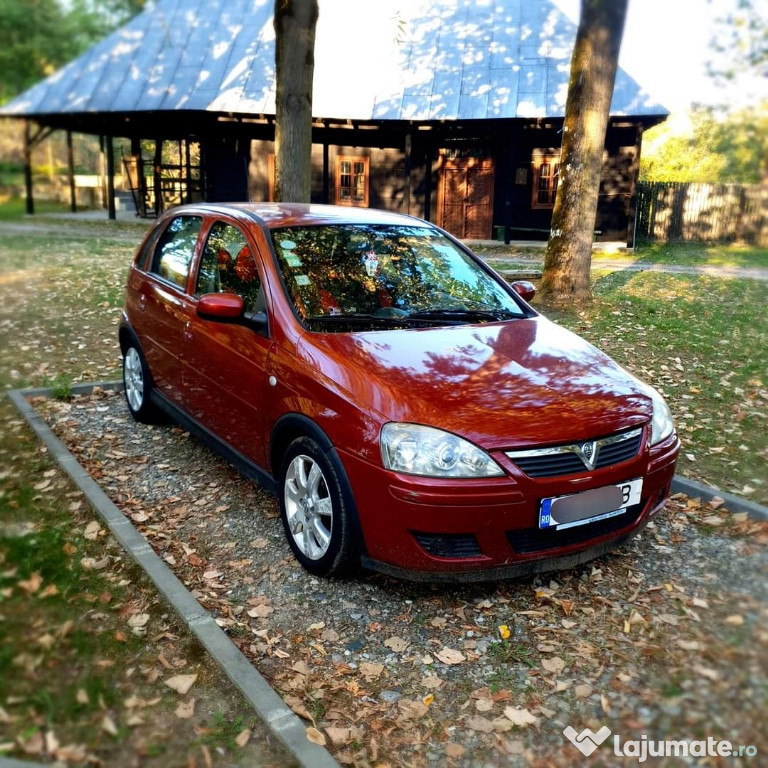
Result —
M381 458L395 472L425 477L498 477L504 472L483 450L449 432L419 424L385 424Z

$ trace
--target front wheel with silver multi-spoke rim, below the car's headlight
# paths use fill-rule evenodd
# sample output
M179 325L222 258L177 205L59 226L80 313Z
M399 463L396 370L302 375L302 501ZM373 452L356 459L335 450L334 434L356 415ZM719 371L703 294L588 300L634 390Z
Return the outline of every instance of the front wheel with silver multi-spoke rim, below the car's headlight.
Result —
M280 472L280 517L296 559L316 576L349 573L359 563L352 498L341 467L309 437L294 440Z

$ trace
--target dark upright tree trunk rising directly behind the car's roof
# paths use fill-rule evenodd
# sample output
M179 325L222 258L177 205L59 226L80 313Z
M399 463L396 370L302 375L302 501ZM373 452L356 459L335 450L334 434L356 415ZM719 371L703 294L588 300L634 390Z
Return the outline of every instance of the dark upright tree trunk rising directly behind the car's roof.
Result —
M275 200L308 203L317 0L275 0Z

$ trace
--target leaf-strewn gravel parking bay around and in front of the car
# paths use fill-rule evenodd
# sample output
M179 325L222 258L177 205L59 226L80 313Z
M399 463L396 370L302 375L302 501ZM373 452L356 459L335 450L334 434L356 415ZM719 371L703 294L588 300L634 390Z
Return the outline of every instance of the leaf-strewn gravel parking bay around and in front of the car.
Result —
M313 738L359 766L569 766L562 736L728 739L768 754L768 526L679 496L577 569L466 586L292 558L270 496L122 396L36 402ZM635 765L606 742L591 765ZM719 761L719 762L718 762Z

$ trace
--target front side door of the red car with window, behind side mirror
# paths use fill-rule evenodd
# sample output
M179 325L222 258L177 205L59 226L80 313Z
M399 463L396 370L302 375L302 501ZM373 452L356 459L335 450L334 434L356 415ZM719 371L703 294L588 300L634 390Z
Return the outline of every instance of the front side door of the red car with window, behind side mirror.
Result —
M204 232L194 283L196 303L206 293L236 293L246 313L266 311L263 272L256 245L245 229L223 218ZM183 386L187 412L259 466L263 401L270 348L262 332L190 314L183 333Z

